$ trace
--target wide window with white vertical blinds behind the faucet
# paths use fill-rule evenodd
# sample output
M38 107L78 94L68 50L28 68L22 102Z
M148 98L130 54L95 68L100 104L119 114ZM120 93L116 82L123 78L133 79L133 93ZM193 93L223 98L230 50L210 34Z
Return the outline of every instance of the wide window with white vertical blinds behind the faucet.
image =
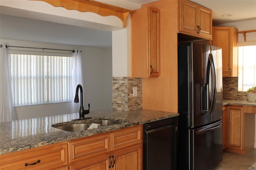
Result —
M71 57L9 54L14 106L71 101Z

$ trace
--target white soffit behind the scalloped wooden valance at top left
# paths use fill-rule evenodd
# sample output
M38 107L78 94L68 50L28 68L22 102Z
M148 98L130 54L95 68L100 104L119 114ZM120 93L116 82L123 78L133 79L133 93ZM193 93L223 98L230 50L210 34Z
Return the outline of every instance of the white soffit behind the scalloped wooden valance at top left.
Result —
M78 12L54 7L43 1L0 0L1 13L37 20L56 22L100 30L118 30L122 21L116 16L100 16L92 12Z

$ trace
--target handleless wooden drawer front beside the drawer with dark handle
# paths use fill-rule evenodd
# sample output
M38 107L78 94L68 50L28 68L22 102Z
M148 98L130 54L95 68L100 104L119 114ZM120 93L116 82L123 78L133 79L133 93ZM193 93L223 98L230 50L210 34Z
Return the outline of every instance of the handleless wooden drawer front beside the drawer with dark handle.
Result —
M109 152L109 134L69 142L69 162Z

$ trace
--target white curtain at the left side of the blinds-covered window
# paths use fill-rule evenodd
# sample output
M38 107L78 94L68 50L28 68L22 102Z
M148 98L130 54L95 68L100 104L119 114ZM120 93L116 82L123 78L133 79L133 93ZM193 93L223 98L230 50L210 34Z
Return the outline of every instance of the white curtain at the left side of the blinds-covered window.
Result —
M1 48L0 56L0 122L16 120L12 101L12 85L9 62L9 49L6 44Z

